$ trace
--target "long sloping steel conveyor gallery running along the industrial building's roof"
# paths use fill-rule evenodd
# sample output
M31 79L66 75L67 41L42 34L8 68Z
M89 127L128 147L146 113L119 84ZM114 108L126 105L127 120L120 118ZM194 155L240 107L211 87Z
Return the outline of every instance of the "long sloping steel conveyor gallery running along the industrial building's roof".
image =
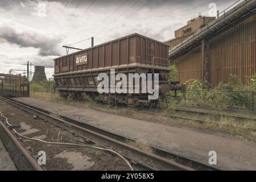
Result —
M175 60L178 57L185 55L189 51L199 47L202 44L202 41L208 42L214 36L236 26L236 24L256 13L256 0L238 1L234 3L234 5L230 6L232 9L229 7L222 11L216 20L213 20L213 22L209 23L207 26L201 28L200 31L196 31L188 39L170 49L169 58ZM207 49L205 50L207 51ZM207 54L207 52L204 54ZM205 61L209 60L205 59ZM207 65L208 63L204 64ZM201 78L202 77L203 76L201 75Z

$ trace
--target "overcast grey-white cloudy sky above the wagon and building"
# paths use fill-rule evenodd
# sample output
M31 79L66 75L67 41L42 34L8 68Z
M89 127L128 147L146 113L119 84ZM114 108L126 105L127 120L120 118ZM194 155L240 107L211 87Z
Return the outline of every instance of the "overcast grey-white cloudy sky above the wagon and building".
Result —
M0 1L0 73L24 69L28 60L46 66L53 75L53 59L65 55L64 45L94 37L94 45L139 34L165 41L187 20L213 16L235 1L209 0L60 0ZM212 5L212 4L211 4ZM87 48L90 40L73 44Z

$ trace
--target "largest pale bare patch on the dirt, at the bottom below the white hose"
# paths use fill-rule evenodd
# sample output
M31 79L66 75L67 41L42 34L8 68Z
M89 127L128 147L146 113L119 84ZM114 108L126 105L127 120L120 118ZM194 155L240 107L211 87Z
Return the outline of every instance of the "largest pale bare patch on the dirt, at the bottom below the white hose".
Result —
M78 170L85 170L89 169L94 165L94 162L90 162L90 158L86 155L83 155L82 153L77 152L61 152L57 155L55 155L54 158L64 158L68 159L68 163L72 164L73 169L72 171L78 171Z

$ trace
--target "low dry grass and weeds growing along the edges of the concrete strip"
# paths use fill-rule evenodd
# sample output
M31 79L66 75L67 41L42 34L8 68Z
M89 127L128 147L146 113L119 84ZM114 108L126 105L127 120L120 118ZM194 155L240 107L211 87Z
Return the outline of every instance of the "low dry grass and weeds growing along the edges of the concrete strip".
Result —
M76 107L82 107L82 108L89 108L93 110L102 111L105 113L110 114L116 114L116 115L122 115L124 117L134 118L134 119L141 119L148 122L154 122L159 123L162 125L167 126L175 126L175 127L184 127L184 128L192 128L196 130L200 130L202 132L210 133L216 132L221 134L228 134L232 138L238 138L241 140L251 140L255 141L255 131L245 129L244 127L250 127L255 128L255 121L254 120L238 120L234 121L233 117L218 117L216 115L200 115L196 113L187 113L187 112L177 112L175 110L165 110L164 114L172 114L176 116L182 116L187 118L198 118L198 119L204 119L206 122L201 123L197 121L187 120L187 119L179 119L179 118L170 118L168 116L164 115L157 115L157 114L148 114L143 113L139 110L133 110L129 108L122 108L122 107L109 107L101 106L95 104L95 102L88 102L88 101L75 101L75 100L64 100L59 97L59 94L57 93L39 93L39 92L33 92L31 93L31 97L33 98L39 98L42 100L57 102L59 104L66 104L66 105L72 105ZM56 111L56 110L53 110ZM60 111L56 112L55 117L58 117ZM237 120L237 119L236 119ZM137 147L140 146L143 148L143 150L148 150L147 147L148 144L141 143L141 142L135 142L130 143L134 144Z

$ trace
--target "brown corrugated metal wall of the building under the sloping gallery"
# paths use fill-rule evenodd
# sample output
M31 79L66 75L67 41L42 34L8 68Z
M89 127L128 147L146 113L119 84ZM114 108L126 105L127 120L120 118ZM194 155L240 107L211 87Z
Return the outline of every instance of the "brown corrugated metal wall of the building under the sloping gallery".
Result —
M209 41L210 82L228 82L230 74L237 75L243 84L255 73L256 15L222 32ZM200 79L201 47L177 59L180 61L180 81Z

